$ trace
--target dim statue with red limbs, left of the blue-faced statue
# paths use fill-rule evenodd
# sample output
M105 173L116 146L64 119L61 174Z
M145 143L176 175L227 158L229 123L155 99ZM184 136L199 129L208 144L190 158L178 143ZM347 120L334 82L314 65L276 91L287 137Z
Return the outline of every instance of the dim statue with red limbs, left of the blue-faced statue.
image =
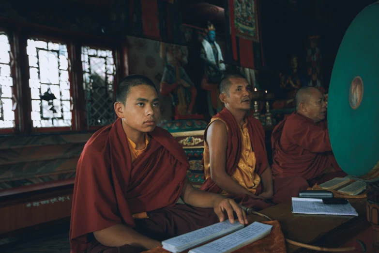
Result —
M160 83L160 93L170 95L175 108L175 120L191 118L195 105L197 90L185 72L183 65L187 64L185 48L161 42L160 57L165 60Z

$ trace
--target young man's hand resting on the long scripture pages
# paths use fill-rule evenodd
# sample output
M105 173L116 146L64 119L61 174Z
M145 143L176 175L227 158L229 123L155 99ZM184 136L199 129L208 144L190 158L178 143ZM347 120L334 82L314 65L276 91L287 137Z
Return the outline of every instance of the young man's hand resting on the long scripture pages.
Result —
M241 224L247 224L246 214L234 200L217 195L213 200L213 210L221 221L225 220L224 212L227 212L227 217L230 223L234 223L233 211L236 212L238 220Z

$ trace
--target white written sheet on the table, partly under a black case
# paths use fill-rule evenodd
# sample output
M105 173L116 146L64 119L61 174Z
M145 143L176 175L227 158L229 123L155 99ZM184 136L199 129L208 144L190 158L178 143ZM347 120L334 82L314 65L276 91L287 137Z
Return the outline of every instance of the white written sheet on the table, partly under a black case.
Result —
M300 214L329 214L358 216L354 207L347 205L325 205L322 199L292 198L292 212Z

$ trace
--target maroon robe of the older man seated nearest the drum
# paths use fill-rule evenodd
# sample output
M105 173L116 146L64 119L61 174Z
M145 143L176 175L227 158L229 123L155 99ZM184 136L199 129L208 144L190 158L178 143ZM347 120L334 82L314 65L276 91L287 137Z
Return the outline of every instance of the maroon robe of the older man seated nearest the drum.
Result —
M329 167L334 168L335 176L346 175L333 156L326 120L315 124L301 114L292 113L274 128L272 148L274 179L300 176L321 183L326 180L323 174ZM314 180L321 177L322 180Z

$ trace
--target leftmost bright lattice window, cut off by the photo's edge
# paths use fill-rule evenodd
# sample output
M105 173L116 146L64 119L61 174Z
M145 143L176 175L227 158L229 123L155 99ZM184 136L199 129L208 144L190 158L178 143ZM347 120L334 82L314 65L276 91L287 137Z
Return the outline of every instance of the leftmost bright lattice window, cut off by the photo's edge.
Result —
M8 36L0 32L0 129L15 127L15 108L13 105L13 78L11 67L13 56Z

